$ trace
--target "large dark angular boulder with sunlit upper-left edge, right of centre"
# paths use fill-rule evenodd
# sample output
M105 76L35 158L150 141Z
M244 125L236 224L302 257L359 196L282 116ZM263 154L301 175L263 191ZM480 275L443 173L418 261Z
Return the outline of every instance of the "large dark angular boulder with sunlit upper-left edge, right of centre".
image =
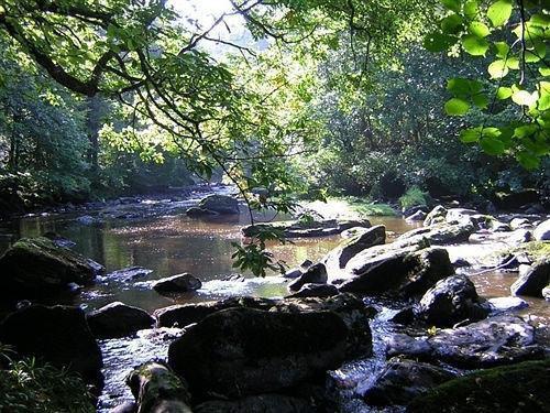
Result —
M421 295L438 280L454 273L449 254L442 248L420 251L405 248L362 262L356 256L349 264L355 265L352 270L355 275L341 283L339 290L364 294Z

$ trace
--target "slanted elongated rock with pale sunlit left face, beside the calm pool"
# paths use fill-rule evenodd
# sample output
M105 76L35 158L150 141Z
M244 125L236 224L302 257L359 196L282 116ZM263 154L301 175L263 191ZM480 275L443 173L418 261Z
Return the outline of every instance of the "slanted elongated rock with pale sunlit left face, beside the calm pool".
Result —
M360 235L348 239L330 251L322 260L326 267L333 272L345 268L348 262L361 251L386 242L386 228L383 225L365 229Z

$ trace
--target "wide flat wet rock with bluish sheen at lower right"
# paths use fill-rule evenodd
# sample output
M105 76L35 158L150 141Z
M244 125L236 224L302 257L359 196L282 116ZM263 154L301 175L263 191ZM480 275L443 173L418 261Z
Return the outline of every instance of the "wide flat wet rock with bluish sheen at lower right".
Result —
M514 315L497 315L459 328L437 330L433 336L394 334L385 338L387 356L440 360L451 366L479 369L544 357L535 327Z

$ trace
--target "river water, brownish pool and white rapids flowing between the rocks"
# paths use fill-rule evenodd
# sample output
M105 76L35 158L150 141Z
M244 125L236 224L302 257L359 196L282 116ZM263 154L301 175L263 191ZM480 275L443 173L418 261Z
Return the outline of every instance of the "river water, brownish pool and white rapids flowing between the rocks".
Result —
M240 242L240 228L249 224L246 214L239 217L210 220L190 219L182 214L185 208L195 205L205 194L196 194L185 200L142 199L130 206L116 206L111 210L96 213L64 213L29 216L0 227L0 251L3 251L20 237L35 237L47 231L76 242L76 251L89 257L112 272L128 267L143 267L152 270L143 279L135 282L121 282L108 276L101 278L96 285L87 287L80 294L67 298L67 304L82 306L86 311L98 308L113 301L142 307L148 312L156 308L190 302L211 301L234 295L253 295L262 297L282 297L286 295L286 281L271 274L265 279L253 279L249 282L221 281L234 271L231 264L232 242ZM112 211L117 214L112 214ZM136 218L120 219L113 216L120 211L145 211ZM82 225L77 217L84 214L101 216L97 225ZM134 214L135 215L135 214ZM128 215L127 215L128 216ZM256 218L274 218L256 216ZM277 219L280 217L277 217ZM373 225L383 224L388 232L388 241L396 236L414 229L419 224L408 224L396 217L372 217ZM340 242L340 237L297 239L284 246L272 244L271 250L276 259L286 261L288 267L297 265L305 259L312 261L321 258ZM479 250L472 246L472 251ZM463 251L462 251L463 252ZM469 270L473 271L473 270ZM196 293L178 296L163 296L151 289L151 281L182 272L198 276L204 285ZM248 274L249 278L252 275ZM517 274L487 272L472 276L480 295L487 297L509 295L509 285ZM531 314L535 322L548 325L550 320L549 305L542 300L528 300L530 308L522 311ZM374 350L384 334L384 319L392 309L381 306L382 312L373 322ZM101 340L106 368L106 388L100 398L100 412L118 405L121 401L132 400L124 384L128 371L140 362L152 358L165 358L169 341L179 332L177 329L151 329L140 332L135 338ZM383 366L383 356L370 360L360 360L344 366L333 372L336 380L353 382L350 389L365 387L364 377L373 377L373 372ZM371 374L367 374L367 372ZM340 377L339 377L340 376ZM355 380L355 381L354 381ZM351 404L350 404L351 403ZM350 411L363 411L362 403L352 407L353 401L346 402Z

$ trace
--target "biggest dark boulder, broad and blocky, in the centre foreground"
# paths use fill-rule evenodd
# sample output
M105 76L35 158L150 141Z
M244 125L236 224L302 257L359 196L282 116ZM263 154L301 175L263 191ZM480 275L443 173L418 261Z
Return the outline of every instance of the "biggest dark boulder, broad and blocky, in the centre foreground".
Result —
M322 380L345 357L348 327L332 312L230 308L207 316L168 349L191 393L220 396L277 392Z

